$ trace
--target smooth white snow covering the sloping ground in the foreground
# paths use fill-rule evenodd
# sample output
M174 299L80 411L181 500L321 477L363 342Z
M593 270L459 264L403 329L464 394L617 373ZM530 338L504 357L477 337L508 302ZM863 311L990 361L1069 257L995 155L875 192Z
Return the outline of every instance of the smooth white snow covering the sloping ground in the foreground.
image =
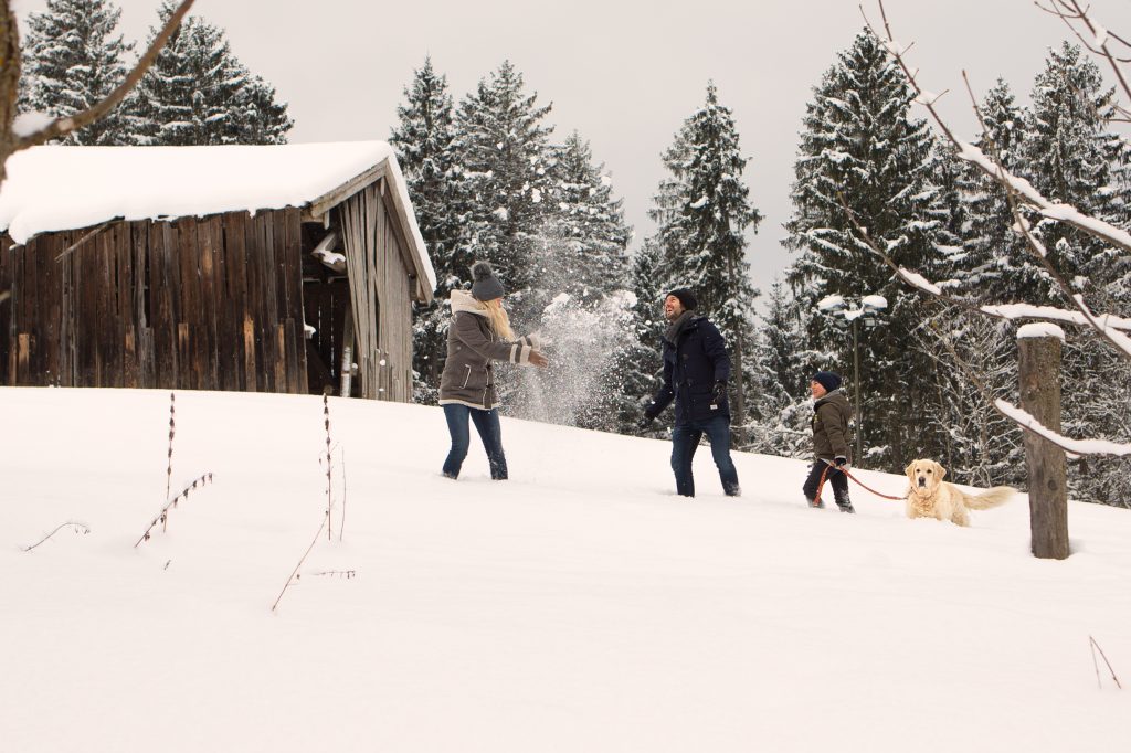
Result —
M1131 513L1072 504L1033 559L1024 496L968 529L737 455L673 494L665 442L503 421L439 475L440 409L2 389L0 751L1125 751ZM896 475L862 481L899 493ZM339 521L345 514L343 540ZM89 527L57 533L66 521ZM352 571L355 577L319 574Z

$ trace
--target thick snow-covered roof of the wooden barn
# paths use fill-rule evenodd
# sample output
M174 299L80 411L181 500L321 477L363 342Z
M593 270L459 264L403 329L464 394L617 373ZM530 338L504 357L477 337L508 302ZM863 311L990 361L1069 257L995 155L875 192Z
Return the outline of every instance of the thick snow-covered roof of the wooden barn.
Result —
M17 152L0 187L0 231L17 243L111 219L169 219L344 200L383 174L431 289L435 271L385 141L276 146L62 147ZM371 180L370 180L371 179Z

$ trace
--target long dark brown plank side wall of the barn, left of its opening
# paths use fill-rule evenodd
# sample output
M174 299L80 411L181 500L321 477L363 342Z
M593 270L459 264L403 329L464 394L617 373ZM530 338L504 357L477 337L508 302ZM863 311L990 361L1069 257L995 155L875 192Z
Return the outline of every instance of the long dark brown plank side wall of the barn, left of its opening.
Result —
M0 242L0 383L305 392L300 211Z

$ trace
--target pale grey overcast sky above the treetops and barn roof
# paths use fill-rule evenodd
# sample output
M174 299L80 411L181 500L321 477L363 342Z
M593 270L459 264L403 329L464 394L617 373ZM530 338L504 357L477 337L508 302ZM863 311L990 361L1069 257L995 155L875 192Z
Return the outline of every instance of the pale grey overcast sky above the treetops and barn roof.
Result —
M144 41L158 0L119 0L121 29ZM18 0L23 17L46 0ZM879 21L874 0L865 11ZM1131 34L1131 3L1095 0L1096 17ZM955 128L976 128L966 69L983 94L998 76L1028 101L1050 45L1069 32L1031 0L888 0L896 37ZM654 231L650 197L661 153L714 79L734 111L751 199L765 215L751 237L756 284L789 262L797 131L811 88L863 26L857 0L197 0L193 12L227 31L235 54L290 104L291 140L386 139L403 88L425 55L458 101L509 59L543 104L555 137L578 130L605 163L638 241ZM1105 71L1106 75L1106 71ZM1110 77L1108 77L1110 78Z

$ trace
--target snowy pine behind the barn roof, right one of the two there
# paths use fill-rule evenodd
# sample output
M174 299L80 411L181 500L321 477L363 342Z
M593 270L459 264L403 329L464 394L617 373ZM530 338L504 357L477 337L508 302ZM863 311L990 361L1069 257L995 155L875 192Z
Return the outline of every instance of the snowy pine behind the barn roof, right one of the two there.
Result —
M176 3L164 0L149 40ZM145 146L282 144L293 126L275 90L232 53L223 29L190 16L131 93L135 141Z

